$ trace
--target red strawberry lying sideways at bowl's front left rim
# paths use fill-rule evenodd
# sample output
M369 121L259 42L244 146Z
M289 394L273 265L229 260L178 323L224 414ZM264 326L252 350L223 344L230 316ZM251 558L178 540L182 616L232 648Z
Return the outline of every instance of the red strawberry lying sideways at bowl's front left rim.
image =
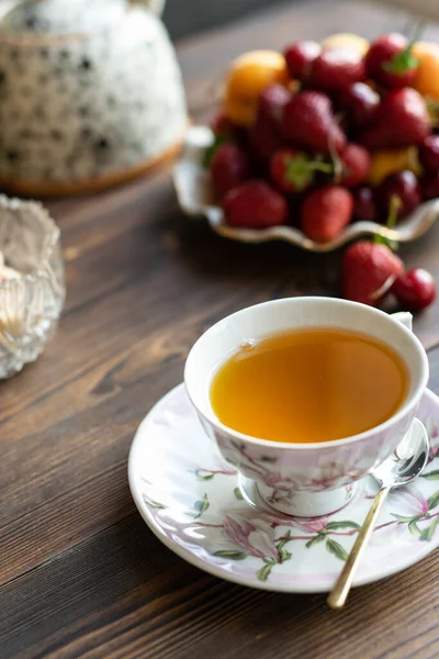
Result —
M266 228L284 224L286 201L266 181L252 179L230 190L223 200L226 224L241 228Z

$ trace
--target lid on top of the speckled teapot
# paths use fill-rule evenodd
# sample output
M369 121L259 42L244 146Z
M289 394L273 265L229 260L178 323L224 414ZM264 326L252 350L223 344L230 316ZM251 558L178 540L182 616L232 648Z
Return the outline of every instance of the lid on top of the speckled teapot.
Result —
M120 21L127 7L127 0L1 0L0 33L95 32Z

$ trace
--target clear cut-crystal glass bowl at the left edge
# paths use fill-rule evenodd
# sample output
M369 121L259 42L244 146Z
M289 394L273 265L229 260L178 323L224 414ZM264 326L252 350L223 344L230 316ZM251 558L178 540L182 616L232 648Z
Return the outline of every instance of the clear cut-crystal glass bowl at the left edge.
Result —
M34 361L58 324L65 300L60 232L34 201L0 194L0 252L18 276L0 269L0 378Z

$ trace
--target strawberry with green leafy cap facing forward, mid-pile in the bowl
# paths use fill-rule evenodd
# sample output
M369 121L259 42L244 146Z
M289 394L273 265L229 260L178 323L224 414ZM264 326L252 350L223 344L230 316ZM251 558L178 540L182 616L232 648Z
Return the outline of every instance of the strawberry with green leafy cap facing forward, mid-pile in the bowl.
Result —
M333 171L333 166L293 148L277 150L270 160L273 183L284 192L302 192L313 182L316 171Z

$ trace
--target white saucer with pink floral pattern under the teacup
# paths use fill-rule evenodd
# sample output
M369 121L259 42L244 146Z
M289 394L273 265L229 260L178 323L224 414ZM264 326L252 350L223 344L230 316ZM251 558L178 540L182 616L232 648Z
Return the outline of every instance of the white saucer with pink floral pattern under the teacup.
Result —
M439 399L429 390L418 417L430 435L429 463L414 484L390 494L353 585L399 572L439 545ZM291 593L331 589L376 492L367 477L337 513L277 513L224 462L183 384L138 428L128 479L145 522L181 558L215 577Z

